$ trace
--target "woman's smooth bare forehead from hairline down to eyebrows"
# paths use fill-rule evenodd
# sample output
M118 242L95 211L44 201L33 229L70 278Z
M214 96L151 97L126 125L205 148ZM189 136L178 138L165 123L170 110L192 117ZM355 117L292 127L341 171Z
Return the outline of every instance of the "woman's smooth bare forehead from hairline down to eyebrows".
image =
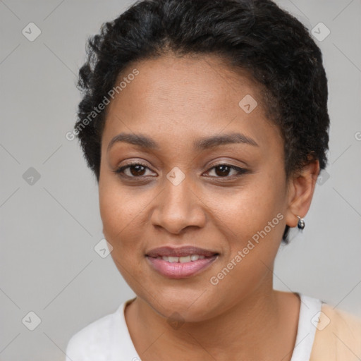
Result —
M122 132L148 134L174 144L215 133L242 132L258 143L279 144L279 130L265 116L259 86L215 56L161 56L133 63L134 69L106 109L102 147ZM276 142L275 142L276 141Z

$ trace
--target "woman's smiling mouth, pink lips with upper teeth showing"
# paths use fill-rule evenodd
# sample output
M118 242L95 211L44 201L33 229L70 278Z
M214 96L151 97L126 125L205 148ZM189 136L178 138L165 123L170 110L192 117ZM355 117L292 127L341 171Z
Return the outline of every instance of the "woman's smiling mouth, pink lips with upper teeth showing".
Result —
M162 276L184 279L207 269L219 257L218 252L198 247L160 247L145 255L149 265Z

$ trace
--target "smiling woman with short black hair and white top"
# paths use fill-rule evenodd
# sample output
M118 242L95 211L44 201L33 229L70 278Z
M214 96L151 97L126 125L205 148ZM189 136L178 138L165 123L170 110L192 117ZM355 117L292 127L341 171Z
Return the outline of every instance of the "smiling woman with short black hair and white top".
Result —
M137 295L68 360L359 360L361 323L273 289L329 142L322 54L270 0L145 0L90 39L74 133Z

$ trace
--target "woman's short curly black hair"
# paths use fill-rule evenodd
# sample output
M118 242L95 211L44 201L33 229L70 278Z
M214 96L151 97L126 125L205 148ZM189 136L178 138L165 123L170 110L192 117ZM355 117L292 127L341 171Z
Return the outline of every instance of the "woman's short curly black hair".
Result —
M326 73L322 52L299 20L271 0L142 0L88 39L79 71L82 100L73 134L98 182L106 112L94 109L127 66L171 53L215 55L247 71L281 130L287 178L315 159L326 167Z

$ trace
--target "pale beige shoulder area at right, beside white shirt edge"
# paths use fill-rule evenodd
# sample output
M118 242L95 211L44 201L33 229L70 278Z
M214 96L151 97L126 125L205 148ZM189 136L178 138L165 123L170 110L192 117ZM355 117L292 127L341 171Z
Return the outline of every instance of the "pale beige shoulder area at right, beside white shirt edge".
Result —
M361 318L323 304L310 361L361 359Z

